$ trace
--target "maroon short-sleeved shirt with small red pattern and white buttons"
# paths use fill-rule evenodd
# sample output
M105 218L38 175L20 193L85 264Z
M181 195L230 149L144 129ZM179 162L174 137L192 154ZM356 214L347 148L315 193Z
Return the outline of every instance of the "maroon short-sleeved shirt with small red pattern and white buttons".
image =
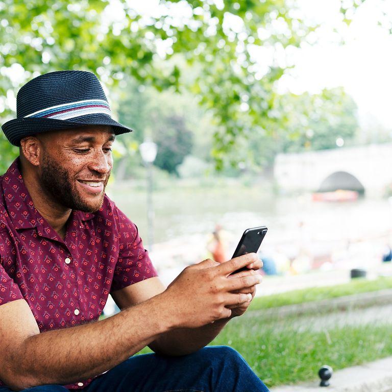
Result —
M154 276L136 226L106 195L95 213L72 211L63 240L34 207L18 160L0 176L0 305L26 300L40 332L96 320L111 291Z

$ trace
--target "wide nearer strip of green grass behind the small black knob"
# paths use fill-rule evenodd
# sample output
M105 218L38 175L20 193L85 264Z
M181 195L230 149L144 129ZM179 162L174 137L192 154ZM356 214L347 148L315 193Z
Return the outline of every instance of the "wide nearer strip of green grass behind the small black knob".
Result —
M293 328L290 320L276 328L259 316L232 320L211 344L233 347L274 386L315 379L323 364L337 370L392 355L390 328L366 324L313 331Z

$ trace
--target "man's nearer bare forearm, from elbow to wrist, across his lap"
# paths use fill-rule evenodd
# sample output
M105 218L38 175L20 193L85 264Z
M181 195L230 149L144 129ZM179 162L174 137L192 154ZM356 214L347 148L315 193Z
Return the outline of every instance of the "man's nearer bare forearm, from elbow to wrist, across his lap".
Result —
M169 321L161 309L157 296L99 322L31 336L17 353L16 376L27 387L99 375L167 331Z

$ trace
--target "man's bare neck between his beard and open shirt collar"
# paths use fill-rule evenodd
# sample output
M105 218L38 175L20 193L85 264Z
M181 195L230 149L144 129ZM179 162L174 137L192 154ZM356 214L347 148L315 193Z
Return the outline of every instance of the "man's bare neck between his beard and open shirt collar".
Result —
M24 170L20 165L20 173L24 185L29 191L34 207L46 220L46 222L64 239L66 233L67 220L72 212L70 208L64 208L53 201L50 195L45 192L38 178L32 170Z

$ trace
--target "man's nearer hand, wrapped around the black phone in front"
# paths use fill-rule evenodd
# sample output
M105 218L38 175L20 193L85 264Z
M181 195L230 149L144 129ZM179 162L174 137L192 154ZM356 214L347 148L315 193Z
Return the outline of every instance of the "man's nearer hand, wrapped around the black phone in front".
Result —
M261 281L251 269L231 275L244 266L253 271L261 261L249 253L222 264L207 259L186 267L161 294L175 327L197 328L243 313Z

